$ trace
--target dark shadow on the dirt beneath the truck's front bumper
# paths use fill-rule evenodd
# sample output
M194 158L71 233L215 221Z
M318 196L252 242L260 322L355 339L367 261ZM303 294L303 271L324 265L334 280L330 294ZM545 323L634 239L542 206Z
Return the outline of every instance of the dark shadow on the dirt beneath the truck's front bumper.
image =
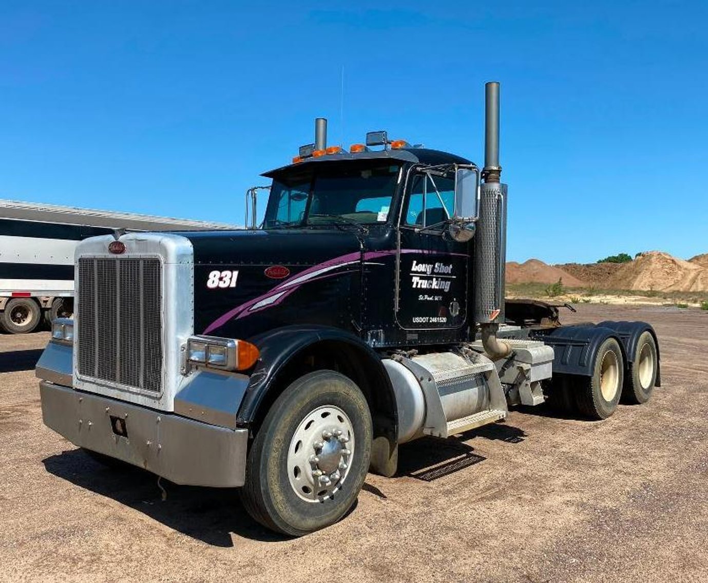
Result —
M154 474L130 465L105 467L80 449L51 455L42 463L47 472L63 480L112 498L208 545L232 547L232 533L263 542L289 538L253 521L234 488L180 486L161 480L167 492L163 501Z

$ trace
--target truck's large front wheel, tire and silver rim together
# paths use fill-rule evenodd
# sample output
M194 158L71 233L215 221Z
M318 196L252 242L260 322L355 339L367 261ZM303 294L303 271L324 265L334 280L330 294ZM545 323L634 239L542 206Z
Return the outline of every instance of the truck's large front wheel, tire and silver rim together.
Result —
M329 526L355 503L371 456L367 401L352 380L316 370L266 414L246 460L241 500L253 519L290 536Z

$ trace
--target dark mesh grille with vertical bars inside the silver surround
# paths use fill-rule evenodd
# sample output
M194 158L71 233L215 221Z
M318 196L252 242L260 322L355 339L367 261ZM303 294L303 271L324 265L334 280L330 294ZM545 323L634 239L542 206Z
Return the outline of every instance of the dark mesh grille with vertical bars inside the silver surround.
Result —
M162 387L159 259L79 259L79 374L159 392Z

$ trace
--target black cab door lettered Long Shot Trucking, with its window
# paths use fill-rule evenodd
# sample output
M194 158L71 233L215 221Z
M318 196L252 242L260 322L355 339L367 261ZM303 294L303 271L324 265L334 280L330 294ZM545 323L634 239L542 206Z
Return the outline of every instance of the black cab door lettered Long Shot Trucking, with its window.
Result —
M467 326L470 242L447 234L455 174L411 171L396 254L396 321L406 330Z

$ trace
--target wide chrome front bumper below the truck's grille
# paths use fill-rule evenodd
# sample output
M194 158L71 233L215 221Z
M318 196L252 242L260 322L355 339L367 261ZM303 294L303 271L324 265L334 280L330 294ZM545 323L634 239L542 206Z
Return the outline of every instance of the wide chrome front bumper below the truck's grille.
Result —
M244 485L247 429L210 425L46 380L40 381L40 397L45 425L76 446L145 468L176 484ZM127 437L113 431L116 418L124 419Z

